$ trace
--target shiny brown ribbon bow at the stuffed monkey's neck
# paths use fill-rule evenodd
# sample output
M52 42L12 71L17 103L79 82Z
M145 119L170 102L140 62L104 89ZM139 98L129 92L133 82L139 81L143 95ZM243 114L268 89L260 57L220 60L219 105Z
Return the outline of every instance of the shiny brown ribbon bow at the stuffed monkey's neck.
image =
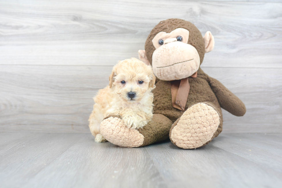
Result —
M195 72L190 77L195 78L197 77L197 74L198 73ZM188 78L171 81L172 106L174 108L184 111L188 99L189 90L190 85Z

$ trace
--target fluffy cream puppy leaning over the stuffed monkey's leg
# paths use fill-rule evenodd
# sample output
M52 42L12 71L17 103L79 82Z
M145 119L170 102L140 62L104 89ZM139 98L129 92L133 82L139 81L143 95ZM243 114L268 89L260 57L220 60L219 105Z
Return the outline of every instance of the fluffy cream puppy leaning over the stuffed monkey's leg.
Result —
M128 128L144 127L153 116L155 75L151 66L131 58L114 66L110 84L94 97L89 128L96 142L106 142L100 134L100 123L110 115L121 116Z

